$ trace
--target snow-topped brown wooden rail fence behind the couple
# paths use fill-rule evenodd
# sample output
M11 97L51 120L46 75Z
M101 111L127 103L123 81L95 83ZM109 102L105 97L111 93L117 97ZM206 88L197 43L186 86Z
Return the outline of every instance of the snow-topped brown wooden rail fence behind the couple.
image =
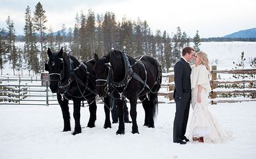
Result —
M212 91L210 93L211 103L216 104L219 102L241 102L241 101L256 101L255 98L240 98L239 100L236 98L218 98L218 95L221 94L255 94L256 88L250 89L218 89L218 84L248 84L255 83L256 78L252 79L231 79L231 80L218 80L217 77L219 74L254 74L256 75L256 69L232 69L232 70L217 70L216 66L212 66L211 71L211 87ZM254 76L255 77L255 76ZM161 85L162 88L169 88L168 91L159 92L159 95L165 95L165 97L169 97L170 102L174 102L173 100L173 88L174 84L174 73L170 72L169 74L163 75L163 78L168 79L168 82L163 82Z

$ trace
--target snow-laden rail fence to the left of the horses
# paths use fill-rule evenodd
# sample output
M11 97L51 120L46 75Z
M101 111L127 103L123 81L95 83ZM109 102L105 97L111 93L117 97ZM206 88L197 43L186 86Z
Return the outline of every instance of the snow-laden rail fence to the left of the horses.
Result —
M38 77L0 78L0 104L58 104L56 95L51 93L49 90L48 81L45 79L41 80Z

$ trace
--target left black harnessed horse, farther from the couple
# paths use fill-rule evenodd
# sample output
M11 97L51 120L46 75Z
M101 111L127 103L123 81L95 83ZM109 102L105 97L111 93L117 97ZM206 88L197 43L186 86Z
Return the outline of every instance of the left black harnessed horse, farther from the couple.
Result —
M57 92L58 103L63 113L64 129L70 131L70 112L68 110L68 100L74 103L75 128L73 135L81 133L80 106L81 101L86 100L89 104L90 119L87 127L95 127L96 121L96 76L93 72L95 60L79 62L76 58L63 52L52 53L48 48L48 61L45 63L45 70L49 71L50 88L52 92ZM106 114L104 127L111 128L110 117Z

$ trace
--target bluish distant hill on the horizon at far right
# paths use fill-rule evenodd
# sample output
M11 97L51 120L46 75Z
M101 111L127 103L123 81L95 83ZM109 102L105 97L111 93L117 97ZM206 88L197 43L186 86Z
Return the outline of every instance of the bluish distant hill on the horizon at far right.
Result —
M226 35L224 38L256 38L256 28L234 32Z

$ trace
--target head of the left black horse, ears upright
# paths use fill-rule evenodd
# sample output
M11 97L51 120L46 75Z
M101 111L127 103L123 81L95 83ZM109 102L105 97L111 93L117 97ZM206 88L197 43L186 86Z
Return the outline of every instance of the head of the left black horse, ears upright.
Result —
M61 70L63 69L63 48L60 52L51 52L47 50L48 60L45 62L45 71L49 72L50 88L53 93L58 90L58 82L61 81Z

